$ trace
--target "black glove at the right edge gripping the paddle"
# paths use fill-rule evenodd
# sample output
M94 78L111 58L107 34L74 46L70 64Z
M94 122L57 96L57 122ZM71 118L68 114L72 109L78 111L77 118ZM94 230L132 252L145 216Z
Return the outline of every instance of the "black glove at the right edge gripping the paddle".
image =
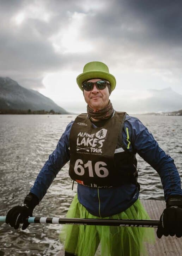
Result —
M171 195L166 202L166 209L164 209L160 216L160 226L157 229L157 237L162 235L176 237L182 236L182 196Z

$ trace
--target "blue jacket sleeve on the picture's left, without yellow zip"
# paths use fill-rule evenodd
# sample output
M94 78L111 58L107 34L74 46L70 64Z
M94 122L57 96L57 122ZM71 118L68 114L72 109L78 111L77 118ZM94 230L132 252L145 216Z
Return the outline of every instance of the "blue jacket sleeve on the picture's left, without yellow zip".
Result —
M46 161L41 171L39 172L34 186L30 192L35 194L39 201L42 200L47 192L47 189L53 182L57 173L61 168L69 161L69 133L73 122L69 123L66 127L65 132L62 134L59 142L57 143L56 149L49 155L49 159Z

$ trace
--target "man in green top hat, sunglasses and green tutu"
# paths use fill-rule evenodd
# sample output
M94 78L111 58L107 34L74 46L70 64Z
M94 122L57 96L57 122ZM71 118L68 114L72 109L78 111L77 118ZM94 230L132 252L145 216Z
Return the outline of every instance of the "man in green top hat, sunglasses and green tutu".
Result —
M102 62L90 62L77 77L83 91L87 114L77 116L66 127L56 149L43 166L24 204L13 207L6 223L17 229L32 216L57 172L67 161L69 176L78 190L67 217L147 219L138 199L140 186L135 154L138 153L160 175L166 209L160 217L157 236L182 236L182 190L174 160L158 146L151 133L137 119L116 112L109 100L116 80ZM24 221L22 229L28 227ZM153 229L107 226L64 226L65 255L145 254L144 241L153 241Z

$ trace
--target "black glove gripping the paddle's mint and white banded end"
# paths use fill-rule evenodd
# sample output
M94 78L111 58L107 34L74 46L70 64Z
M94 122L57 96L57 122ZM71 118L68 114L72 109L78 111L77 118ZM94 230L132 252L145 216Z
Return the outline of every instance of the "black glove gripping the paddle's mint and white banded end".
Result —
M39 204L38 197L30 192L25 197L23 204L14 206L8 211L6 215L6 224L10 223L11 227L18 229L19 224L23 223L22 229L26 229L30 223L25 221L25 219L32 216L33 210L37 204Z

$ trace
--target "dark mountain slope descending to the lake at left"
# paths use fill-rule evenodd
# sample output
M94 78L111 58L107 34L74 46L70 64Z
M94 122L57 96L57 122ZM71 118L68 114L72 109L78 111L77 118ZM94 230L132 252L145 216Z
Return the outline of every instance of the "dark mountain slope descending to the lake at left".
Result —
M0 109L46 110L69 114L50 98L20 86L11 78L0 77Z

